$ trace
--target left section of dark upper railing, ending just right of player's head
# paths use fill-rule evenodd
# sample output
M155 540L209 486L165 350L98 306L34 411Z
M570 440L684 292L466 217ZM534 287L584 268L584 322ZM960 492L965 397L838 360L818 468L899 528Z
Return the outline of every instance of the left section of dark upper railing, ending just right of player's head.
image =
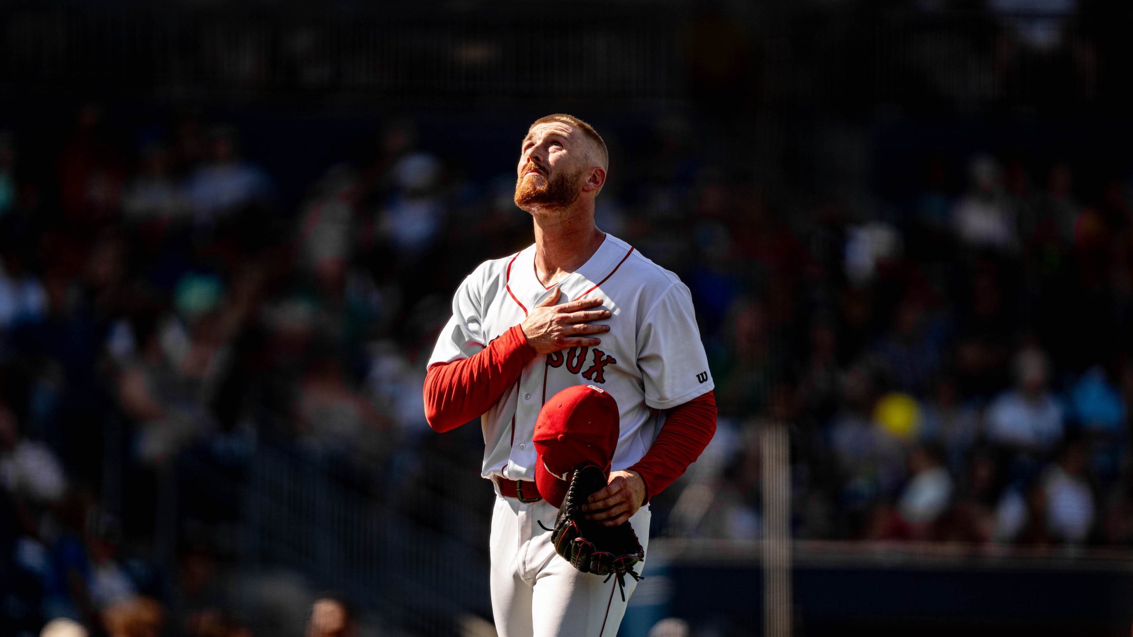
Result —
M624 14L624 11L622 11ZM0 80L174 100L676 95L672 19L0 10Z

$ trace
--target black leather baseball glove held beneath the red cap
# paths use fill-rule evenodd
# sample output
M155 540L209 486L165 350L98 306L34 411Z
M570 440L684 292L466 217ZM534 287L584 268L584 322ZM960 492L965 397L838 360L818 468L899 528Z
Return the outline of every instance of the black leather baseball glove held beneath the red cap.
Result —
M633 526L625 521L615 527L604 526L586 519L582 506L591 493L606 486L606 476L594 465L583 465L574 470L566 496L559 508L551 541L555 551L582 572L615 576L625 598L625 576L640 579L633 566L645 559L645 550L633 533ZM543 526L543 523L539 523Z

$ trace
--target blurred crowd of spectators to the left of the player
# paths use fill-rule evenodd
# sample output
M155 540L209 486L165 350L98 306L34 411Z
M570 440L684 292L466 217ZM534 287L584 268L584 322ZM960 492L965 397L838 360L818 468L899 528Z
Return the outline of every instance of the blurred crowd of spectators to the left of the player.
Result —
M446 458L474 456L426 438L421 400L459 280L444 256L459 197L408 125L331 167L297 210L230 126L186 117L137 141L96 105L66 126L40 164L22 148L41 139L0 136L0 596L14 620L0 634L58 618L157 634L116 629L126 609L169 634L235 637L235 600L250 594L276 597L258 625L295 635L309 584L233 570L256 449L421 524L445 515L431 490L462 493ZM516 243L495 209L465 214L511 241L457 241L470 258Z

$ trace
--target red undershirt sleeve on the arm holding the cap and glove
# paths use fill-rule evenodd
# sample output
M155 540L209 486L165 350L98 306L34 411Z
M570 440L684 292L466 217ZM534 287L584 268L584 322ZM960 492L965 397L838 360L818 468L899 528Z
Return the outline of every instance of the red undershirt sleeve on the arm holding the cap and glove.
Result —
M684 475L715 433L716 396L713 392L667 409L657 440L645 457L630 467L645 482L645 502Z

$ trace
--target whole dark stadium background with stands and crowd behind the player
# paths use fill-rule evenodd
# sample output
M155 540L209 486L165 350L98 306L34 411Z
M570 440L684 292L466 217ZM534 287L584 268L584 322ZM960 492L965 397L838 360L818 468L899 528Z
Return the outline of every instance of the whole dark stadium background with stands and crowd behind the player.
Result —
M327 591L494 635L483 441L420 387L531 241L550 112L605 136L599 227L690 286L721 408L621 635L1127 634L1131 19L0 5L0 635L299 636Z

